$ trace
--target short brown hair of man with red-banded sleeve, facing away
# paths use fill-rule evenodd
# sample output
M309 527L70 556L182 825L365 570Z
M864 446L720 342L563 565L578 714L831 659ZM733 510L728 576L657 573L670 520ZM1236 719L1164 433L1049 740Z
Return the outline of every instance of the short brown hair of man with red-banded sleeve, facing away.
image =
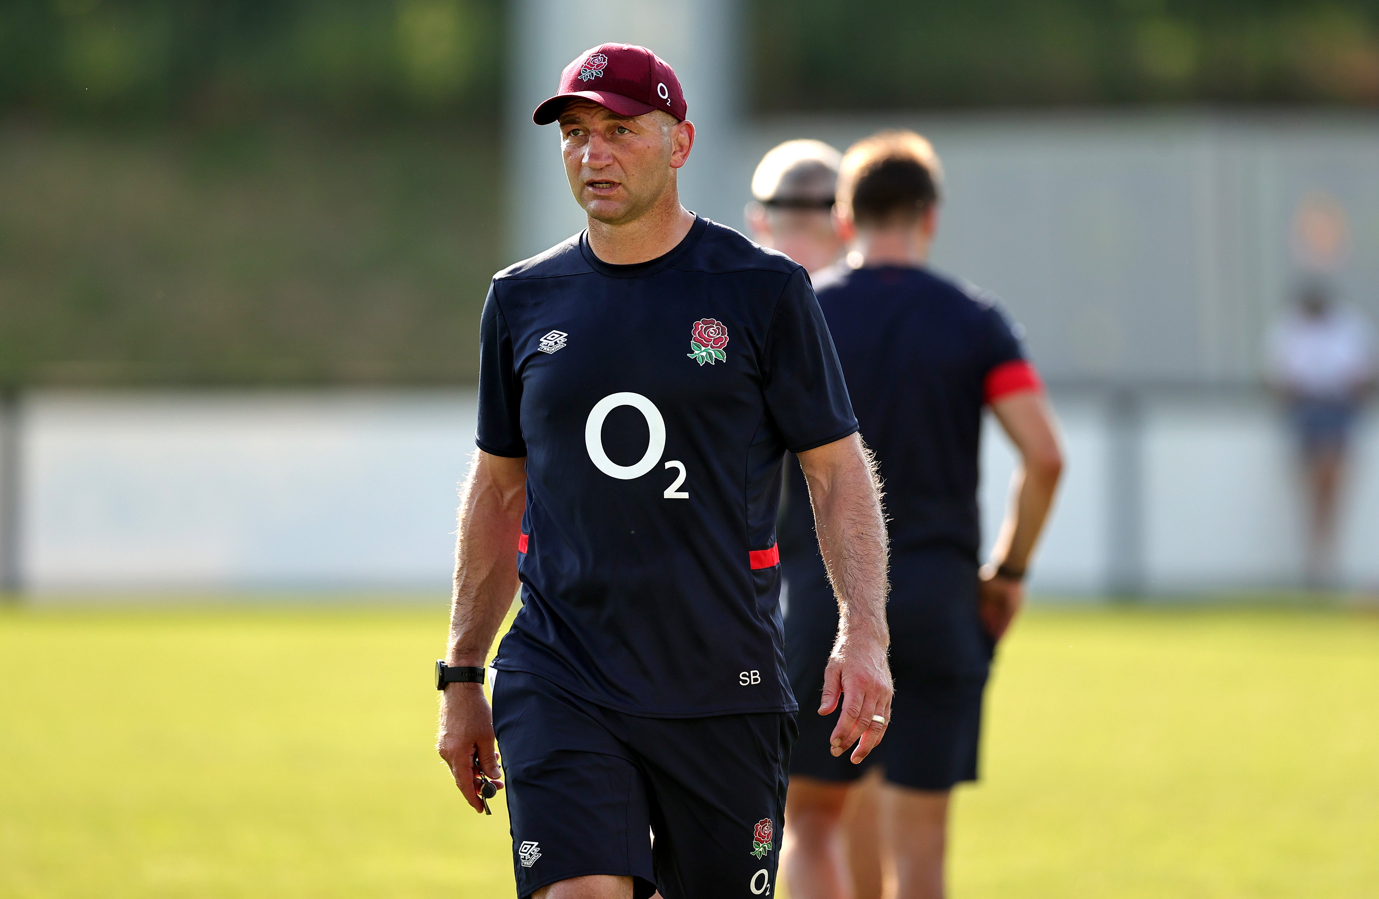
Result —
M838 170L838 211L858 225L910 223L939 201L943 167L913 131L881 131L858 141Z

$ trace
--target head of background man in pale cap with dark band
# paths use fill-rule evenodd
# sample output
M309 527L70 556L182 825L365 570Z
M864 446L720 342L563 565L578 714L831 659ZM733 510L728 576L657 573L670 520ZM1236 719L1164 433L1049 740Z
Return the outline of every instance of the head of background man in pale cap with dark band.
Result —
M822 141L786 141L761 157L752 176L747 228L811 274L843 256L833 189L843 154Z

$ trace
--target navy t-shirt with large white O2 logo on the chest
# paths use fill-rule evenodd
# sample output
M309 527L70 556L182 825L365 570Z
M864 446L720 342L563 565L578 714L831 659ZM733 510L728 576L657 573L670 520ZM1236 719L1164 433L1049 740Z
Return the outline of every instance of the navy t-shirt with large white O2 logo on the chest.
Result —
M856 430L809 280L698 218L659 259L585 234L494 277L479 447L527 458L523 608L495 666L633 714L794 710L786 450Z

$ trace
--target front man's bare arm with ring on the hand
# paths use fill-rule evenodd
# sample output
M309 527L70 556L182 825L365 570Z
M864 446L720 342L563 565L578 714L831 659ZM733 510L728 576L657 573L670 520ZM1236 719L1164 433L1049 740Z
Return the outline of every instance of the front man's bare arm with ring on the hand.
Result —
M823 705L830 714L843 700L843 714L830 736L841 756L860 738L852 762L881 742L891 720L891 644L885 622L885 517L872 458L856 434L807 450L800 467L809 484L819 549L838 597L838 637L823 673Z

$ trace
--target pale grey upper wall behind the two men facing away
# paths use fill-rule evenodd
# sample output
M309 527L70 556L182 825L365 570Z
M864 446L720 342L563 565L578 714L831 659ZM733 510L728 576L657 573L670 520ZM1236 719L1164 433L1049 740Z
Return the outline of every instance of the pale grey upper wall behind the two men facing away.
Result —
M932 139L946 172L934 263L1001 296L1045 375L1258 378L1303 267L1294 216L1314 192L1349 223L1329 277L1379 321L1376 113L775 117L754 123L743 165L785 139L845 148L884 127ZM728 189L746 200L745 176Z

